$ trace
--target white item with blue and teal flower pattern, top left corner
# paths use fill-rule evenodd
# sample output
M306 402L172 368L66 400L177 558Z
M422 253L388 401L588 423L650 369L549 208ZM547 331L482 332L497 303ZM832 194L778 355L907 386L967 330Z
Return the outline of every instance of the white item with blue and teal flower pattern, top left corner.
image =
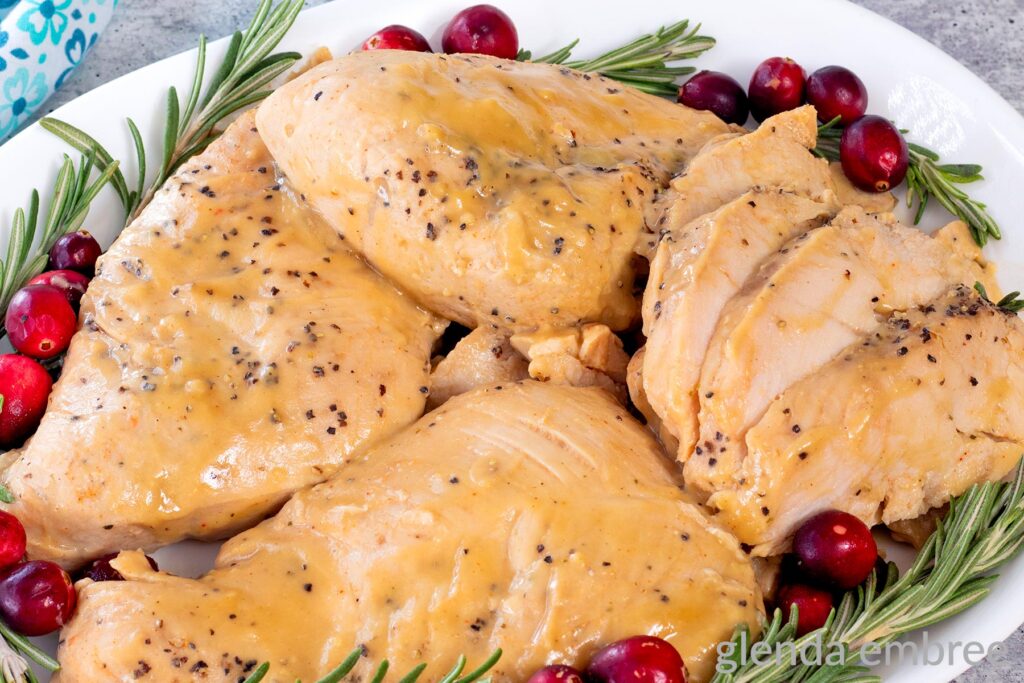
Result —
M0 141L59 88L118 0L0 0Z

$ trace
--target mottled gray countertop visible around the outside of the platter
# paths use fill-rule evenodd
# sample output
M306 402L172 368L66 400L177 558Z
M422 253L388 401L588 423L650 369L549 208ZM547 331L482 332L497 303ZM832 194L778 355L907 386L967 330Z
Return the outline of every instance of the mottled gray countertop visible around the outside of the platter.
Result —
M307 0L307 4L326 1ZM956 57L1024 113L1022 0L855 1ZM117 76L191 48L200 33L226 35L245 24L253 5L253 0L122 0L83 67L48 105L59 106ZM997 660L982 663L956 679L958 683L1024 682L1024 629L1005 647Z

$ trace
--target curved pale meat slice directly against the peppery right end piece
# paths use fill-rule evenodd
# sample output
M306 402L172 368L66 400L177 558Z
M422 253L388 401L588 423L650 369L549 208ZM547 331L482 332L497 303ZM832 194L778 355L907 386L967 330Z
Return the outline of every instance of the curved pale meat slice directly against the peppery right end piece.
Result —
M775 397L874 332L889 312L951 285L994 288L990 275L963 223L933 238L859 207L783 246L729 301L709 343L693 450L700 457L680 454L687 483L711 493L730 480L746 430ZM714 456L723 440L736 445Z

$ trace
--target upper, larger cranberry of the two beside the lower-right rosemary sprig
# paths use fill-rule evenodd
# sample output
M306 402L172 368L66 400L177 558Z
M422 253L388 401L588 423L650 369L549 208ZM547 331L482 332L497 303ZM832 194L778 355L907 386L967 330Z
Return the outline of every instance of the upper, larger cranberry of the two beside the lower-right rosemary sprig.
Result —
M879 558L871 529L841 510L805 521L793 539L793 552L808 579L844 591L862 584Z

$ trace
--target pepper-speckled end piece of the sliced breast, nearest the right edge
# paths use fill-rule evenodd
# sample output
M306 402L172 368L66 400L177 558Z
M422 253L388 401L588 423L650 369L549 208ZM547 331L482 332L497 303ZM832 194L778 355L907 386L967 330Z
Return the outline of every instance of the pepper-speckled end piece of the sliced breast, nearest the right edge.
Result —
M1024 324L959 286L880 329L771 401L708 504L758 555L828 508L919 517L1024 453ZM719 450L726 450L720 454Z

